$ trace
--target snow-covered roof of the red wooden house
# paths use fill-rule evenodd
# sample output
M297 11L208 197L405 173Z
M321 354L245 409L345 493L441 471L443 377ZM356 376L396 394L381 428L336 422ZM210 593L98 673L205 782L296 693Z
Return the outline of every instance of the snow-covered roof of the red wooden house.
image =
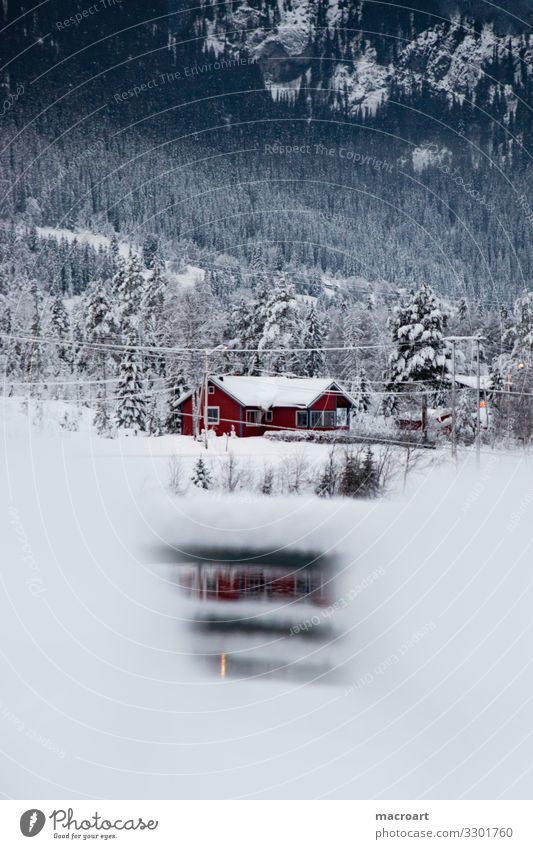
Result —
M339 383L330 377L252 377L225 374L210 375L209 380L243 407L259 407L262 410L269 410L271 407L305 409L332 386L336 386L351 403L355 403ZM178 403L185 401L190 394L183 395Z

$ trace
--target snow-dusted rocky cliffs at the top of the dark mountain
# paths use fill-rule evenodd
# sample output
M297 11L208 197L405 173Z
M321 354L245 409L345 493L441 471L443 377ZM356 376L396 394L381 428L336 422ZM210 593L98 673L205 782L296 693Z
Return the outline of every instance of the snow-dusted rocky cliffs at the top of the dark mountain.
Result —
M330 0L324 14L316 0L279 0L275 8L267 3L260 13L245 2L226 12L224 21L209 24L206 49L218 55L224 47L252 56L266 87L278 99L285 88L298 90L305 72L316 65L314 57L322 56L326 44L336 39L333 61L322 63L320 85L337 92L335 105L347 106L354 115L375 114L393 87L404 95L420 93L423 87L429 94L444 93L451 105L474 95L485 76L488 97L501 90L511 108L511 85L492 79L494 63L511 63L517 86L525 86L531 76L533 47L527 35L499 34L491 22L476 28L457 14L446 22L438 18L438 23L409 39L404 30L384 35L384 43L390 46L394 41L397 49L392 62L380 61L378 34L365 31L363 37L354 27L358 22L363 25L363 11L364 3L346 9L339 0Z

